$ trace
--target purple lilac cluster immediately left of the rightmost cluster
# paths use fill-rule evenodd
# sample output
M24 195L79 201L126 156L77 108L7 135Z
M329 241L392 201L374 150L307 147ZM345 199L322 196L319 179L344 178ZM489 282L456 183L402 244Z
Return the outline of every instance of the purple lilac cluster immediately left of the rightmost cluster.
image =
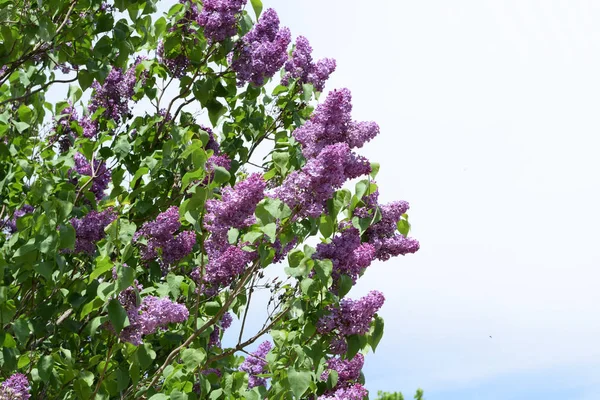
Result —
M375 247L370 243L361 243L360 232L353 226L337 234L331 243L319 243L313 255L317 260L331 260L334 281L341 274L346 274L355 283L361 271L371 265L374 257Z

